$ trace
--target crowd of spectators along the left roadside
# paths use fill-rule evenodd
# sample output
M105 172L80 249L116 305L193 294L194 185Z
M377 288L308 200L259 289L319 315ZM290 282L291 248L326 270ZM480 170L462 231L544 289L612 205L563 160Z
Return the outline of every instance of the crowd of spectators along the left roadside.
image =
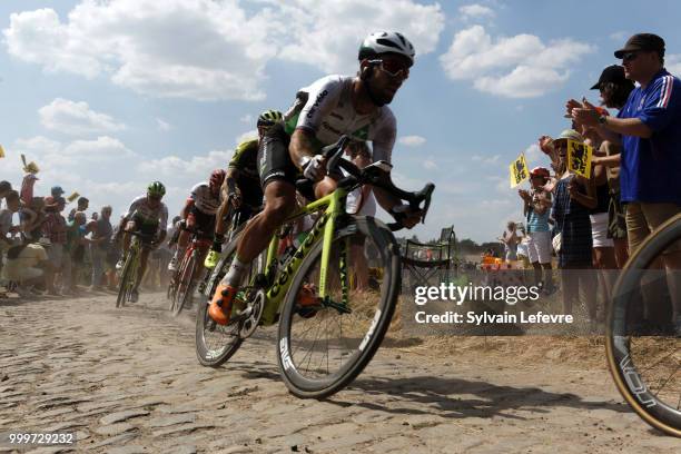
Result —
M88 218L89 200L79 197L67 213L60 186L47 197L34 196L37 169L24 171L20 190L0 181L0 296L116 290L111 207Z

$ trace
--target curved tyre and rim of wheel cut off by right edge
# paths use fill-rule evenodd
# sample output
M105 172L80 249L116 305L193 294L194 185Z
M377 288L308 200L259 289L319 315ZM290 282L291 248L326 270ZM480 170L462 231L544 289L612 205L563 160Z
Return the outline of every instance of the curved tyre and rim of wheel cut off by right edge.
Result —
M608 314L605 353L618 391L632 409L649 425L681 437L681 412L671 408L648 391L629 355L625 336L626 308L634 287L645 268L674 241L681 240L681 215L662 224L629 258L613 288Z

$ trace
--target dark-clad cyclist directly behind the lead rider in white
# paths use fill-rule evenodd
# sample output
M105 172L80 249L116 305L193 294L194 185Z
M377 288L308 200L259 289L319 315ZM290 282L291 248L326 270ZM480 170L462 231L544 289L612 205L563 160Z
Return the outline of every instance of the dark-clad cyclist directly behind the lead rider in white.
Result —
M263 188L260 187L260 176L258 174L258 147L265 132L283 121L284 116L278 110L265 110L258 117L258 138L240 142L227 167L227 176L221 187L223 200L217 211L215 224L215 240L206 267L213 268L218 261L218 255L225 243L227 231L229 206L240 210L241 223L248 219L254 208L263 205Z

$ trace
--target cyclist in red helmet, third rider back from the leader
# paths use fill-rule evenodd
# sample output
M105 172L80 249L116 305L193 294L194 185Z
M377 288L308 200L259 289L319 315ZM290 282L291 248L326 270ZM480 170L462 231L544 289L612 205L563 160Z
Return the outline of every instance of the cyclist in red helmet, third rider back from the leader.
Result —
M220 187L225 181L226 171L215 169L210 174L207 182L199 182L191 188L191 195L185 203L180 216L184 223L180 224L180 234L177 239L177 249L168 264L168 269L177 270L177 265L185 255L191 233L198 231L199 238L213 241L215 235L215 219L221 204ZM203 264L208 246L201 245L198 263ZM200 270L201 267L197 267Z

